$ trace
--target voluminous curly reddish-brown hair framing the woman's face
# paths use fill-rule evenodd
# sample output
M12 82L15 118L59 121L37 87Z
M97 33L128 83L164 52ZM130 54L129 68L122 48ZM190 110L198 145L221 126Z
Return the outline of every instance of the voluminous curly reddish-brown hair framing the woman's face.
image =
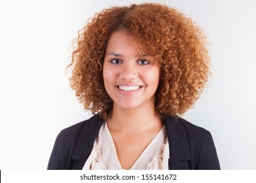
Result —
M192 107L209 76L206 37L198 25L157 3L110 7L96 13L78 31L72 53L70 86L85 110L106 119L113 101L104 88L103 61L110 35L126 29L160 64L155 108L160 116L177 116Z

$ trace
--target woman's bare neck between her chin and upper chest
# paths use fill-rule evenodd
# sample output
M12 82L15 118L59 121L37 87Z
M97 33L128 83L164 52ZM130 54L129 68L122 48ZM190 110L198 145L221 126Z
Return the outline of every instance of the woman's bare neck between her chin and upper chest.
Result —
M127 133L139 133L159 129L163 127L163 124L154 106L124 109L114 105L108 117L108 127Z

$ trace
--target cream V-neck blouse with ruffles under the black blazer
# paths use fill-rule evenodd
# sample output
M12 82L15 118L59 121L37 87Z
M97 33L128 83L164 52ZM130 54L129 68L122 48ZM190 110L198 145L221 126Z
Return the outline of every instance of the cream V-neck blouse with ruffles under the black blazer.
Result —
M169 143L165 127L154 137L130 170L161 170L168 168ZM121 170L116 147L106 122L100 127L91 155L83 170Z

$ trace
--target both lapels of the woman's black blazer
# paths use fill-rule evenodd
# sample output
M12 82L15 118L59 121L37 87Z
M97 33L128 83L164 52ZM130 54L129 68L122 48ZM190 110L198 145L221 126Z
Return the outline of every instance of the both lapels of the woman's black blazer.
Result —
M188 145L186 129L182 120L182 118L173 116L165 116L163 118L169 139L170 156L174 156L179 160L188 160L191 159L190 148ZM98 115L93 116L85 122L75 144L72 159L81 160L89 157L91 150L93 149L95 139L98 135L98 131L100 130L103 122L104 119Z

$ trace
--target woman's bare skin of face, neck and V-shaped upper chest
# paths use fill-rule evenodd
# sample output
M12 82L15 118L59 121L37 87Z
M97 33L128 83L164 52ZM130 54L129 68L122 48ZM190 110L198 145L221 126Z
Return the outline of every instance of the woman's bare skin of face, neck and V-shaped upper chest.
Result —
M104 86L113 100L107 125L123 169L133 166L163 127L154 106L160 67L139 47L127 31L116 31L108 41L103 65ZM119 86L137 88L125 91Z

